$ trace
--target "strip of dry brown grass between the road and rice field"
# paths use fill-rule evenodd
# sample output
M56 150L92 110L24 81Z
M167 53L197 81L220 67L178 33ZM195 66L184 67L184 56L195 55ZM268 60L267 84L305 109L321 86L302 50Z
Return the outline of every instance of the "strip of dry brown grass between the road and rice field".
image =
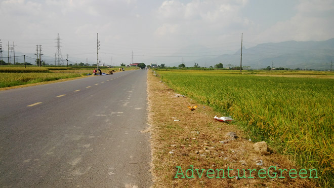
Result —
M148 71L148 101L152 147L152 187L315 187L308 178L207 178L204 171L201 178L174 178L177 166L183 173L194 169L235 169L231 176L237 175L236 169L297 169L287 156L268 152L258 154L253 150L253 142L248 141L235 125L214 120L218 115L211 107L197 104L190 98L175 97L175 92L160 82L158 77ZM194 111L187 106L198 105ZM180 121L174 121L174 119ZM238 137L225 144L220 143L227 132L234 131ZM213 147L213 148L211 148ZM202 156L196 151L209 149ZM270 150L270 149L269 149ZM173 151L174 154L169 152ZM263 166L257 166L260 160ZM249 173L246 171L246 176ZM227 172L225 172L227 173ZM318 172L319 173L319 172ZM242 176L243 172L240 171ZM190 173L188 175L191 175ZM215 174L217 175L217 173ZM179 175L180 177L180 175Z

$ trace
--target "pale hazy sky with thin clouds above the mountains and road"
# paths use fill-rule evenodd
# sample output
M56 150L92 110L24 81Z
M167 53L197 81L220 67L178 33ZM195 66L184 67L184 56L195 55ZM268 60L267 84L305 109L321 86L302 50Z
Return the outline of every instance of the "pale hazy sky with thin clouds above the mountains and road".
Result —
M243 45L323 41L334 37L334 1L319 0L0 0L0 39L6 50L54 57L57 33L64 59L106 64L233 53ZM183 49L183 50L181 50ZM6 50L7 51L7 50ZM203 51L201 53L201 51ZM7 54L4 54L7 56Z

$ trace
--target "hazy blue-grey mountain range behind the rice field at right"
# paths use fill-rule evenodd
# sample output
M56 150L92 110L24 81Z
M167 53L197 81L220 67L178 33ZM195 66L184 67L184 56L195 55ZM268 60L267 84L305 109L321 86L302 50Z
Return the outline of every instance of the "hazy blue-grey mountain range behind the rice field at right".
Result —
M186 62L192 66L194 62L200 66L214 66L223 63L224 67L240 66L239 49L234 54L224 54L214 58L204 57ZM334 61L334 39L327 41L297 42L287 41L281 43L264 43L252 48L242 48L242 66L251 68L285 67L301 69L330 69L330 61ZM173 63L178 66L180 62ZM334 68L334 67L333 67Z

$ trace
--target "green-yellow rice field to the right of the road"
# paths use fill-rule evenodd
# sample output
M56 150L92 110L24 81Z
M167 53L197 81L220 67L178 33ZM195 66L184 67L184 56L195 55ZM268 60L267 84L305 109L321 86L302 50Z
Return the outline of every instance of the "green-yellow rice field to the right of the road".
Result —
M157 74L176 92L231 116L252 140L269 141L302 167L318 169L322 185L334 184L333 79L229 71L160 70Z

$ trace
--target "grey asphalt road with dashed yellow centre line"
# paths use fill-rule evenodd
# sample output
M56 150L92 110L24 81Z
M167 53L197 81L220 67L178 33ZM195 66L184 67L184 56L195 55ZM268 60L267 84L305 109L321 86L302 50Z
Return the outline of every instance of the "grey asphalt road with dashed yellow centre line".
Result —
M146 78L0 91L0 187L149 187Z

